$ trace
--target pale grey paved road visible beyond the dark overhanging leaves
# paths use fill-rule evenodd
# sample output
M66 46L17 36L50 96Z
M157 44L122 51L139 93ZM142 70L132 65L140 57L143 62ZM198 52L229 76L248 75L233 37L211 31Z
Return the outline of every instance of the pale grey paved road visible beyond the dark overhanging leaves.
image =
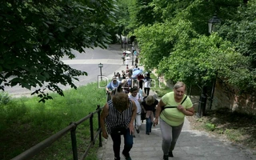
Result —
M90 82L97 82L98 76L100 75L100 70L98 64L102 63L102 75L110 78L114 75L114 71L122 68L122 50L120 45L111 45L108 49L103 50L102 48L86 49L86 53L80 54L76 50L72 50L72 53L75 54L76 58L69 59L67 57L62 58L62 62L70 65L71 67L86 71L87 76L80 76L79 81L74 81L76 86L84 86ZM121 70L119 70L121 71ZM70 89L70 86L61 86L62 90ZM27 90L21 86L6 86L6 92L9 94L20 97L20 96L29 96L35 88L32 90Z

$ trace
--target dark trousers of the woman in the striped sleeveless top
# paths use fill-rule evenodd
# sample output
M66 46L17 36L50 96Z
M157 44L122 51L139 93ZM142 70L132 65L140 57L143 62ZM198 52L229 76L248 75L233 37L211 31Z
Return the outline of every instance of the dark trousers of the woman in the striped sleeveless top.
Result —
M120 146L121 146L121 134L110 134L112 141L113 141L113 150L114 150L114 157L120 158ZM122 150L122 154L125 156L130 155L130 149L133 147L134 144L134 137L130 134L129 128L126 130L126 134L123 135L124 138L124 149Z

